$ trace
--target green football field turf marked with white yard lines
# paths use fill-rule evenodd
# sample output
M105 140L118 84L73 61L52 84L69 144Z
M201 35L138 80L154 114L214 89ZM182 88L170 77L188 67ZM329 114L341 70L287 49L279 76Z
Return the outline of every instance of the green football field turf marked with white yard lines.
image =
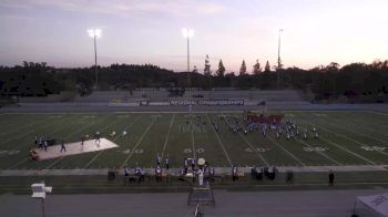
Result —
M200 128L187 113L0 114L0 169L133 167L136 163L154 167L157 154L169 155L171 167L180 167L195 153L217 167L388 165L387 114L274 112L278 113L294 116L302 127L317 127L319 138L278 140L275 131L266 137L256 131L236 134L219 120L221 113L194 114L205 122ZM213 117L219 132L212 127ZM96 131L120 147L39 162L28 157L35 135L70 143ZM113 131L116 135L109 136ZM120 136L123 131L126 136Z

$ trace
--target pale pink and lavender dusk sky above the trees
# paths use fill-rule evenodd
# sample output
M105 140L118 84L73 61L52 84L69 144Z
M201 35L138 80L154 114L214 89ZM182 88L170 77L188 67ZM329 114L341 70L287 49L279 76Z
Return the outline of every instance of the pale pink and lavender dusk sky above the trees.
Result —
M89 28L102 29L98 61L186 69L182 28L194 29L192 66L212 71L277 61L286 68L388 59L387 0L0 0L0 64L94 64Z

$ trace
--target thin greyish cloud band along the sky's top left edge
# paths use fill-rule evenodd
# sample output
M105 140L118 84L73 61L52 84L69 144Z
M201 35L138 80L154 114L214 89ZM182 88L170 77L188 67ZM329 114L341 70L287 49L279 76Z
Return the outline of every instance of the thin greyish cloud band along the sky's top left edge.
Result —
M198 0L4 0L0 8L55 10L131 17L136 13L161 13L166 16L217 14L226 10L219 3Z

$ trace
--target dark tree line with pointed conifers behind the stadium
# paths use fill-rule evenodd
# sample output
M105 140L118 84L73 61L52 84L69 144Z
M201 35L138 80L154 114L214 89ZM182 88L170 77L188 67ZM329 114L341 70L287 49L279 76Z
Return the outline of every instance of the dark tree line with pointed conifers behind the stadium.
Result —
M234 87L239 90L293 89L314 93L316 100L339 96L387 95L388 61L370 64L350 63L340 66L331 62L309 70L299 68L274 69L268 61L262 69L257 60L248 69L243 60L238 74L226 73L219 60L213 72L206 55L204 71L173 72L152 64L111 64L98 66L99 90L134 90L136 87L185 87L204 90ZM45 96L61 91L88 94L95 85L94 66L55 69L45 62L23 62L16 66L0 66L2 96ZM279 75L279 76L278 76ZM278 81L279 78L279 81Z

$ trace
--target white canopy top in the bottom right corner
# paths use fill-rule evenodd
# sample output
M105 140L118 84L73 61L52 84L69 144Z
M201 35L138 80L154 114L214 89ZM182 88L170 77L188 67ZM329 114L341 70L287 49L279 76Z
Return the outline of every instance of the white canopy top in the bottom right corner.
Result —
M357 203L363 204L378 216L388 217L388 193L371 196L358 196Z

